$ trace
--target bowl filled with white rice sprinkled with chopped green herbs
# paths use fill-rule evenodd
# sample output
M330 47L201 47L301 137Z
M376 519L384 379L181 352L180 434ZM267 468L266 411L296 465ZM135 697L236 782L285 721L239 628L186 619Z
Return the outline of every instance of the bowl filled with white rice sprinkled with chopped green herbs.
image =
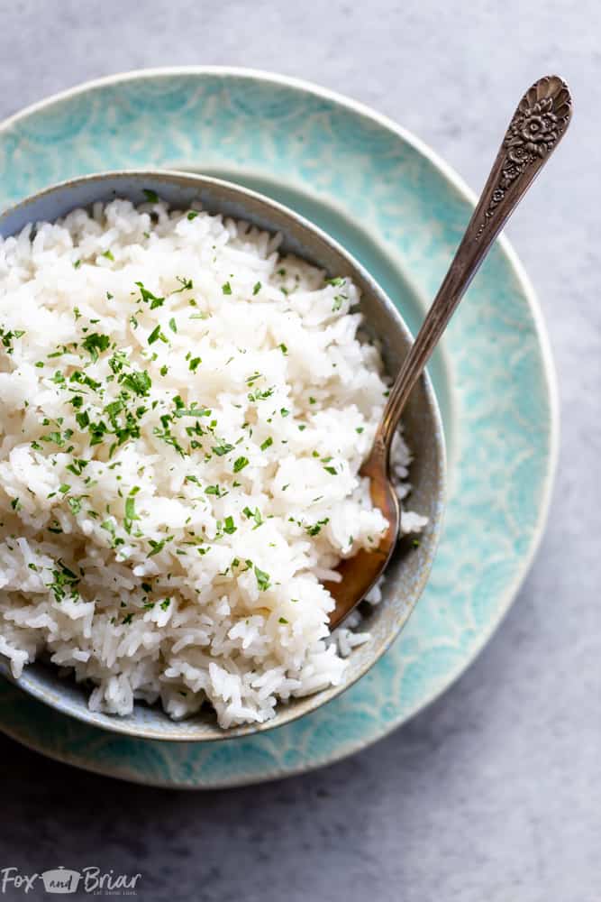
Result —
M395 640L441 531L441 419L423 377L396 553L331 631L323 583L386 526L359 471L412 339L329 236L218 179L77 179L0 217L0 330L4 676L210 741L314 710Z

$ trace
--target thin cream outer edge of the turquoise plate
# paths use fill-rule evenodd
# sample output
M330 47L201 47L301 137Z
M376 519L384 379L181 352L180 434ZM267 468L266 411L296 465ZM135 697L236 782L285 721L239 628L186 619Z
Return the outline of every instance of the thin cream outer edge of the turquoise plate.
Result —
M271 85L296 88L297 90L309 93L314 97L323 97L332 104L341 106L351 111L355 115L360 115L360 117L368 119L370 122L375 122L382 128L386 129L388 132L394 133L400 141L409 145L415 152L429 161L434 170L438 170L438 172L442 176L442 179L444 179L447 184L451 186L451 188L455 191L456 195L461 200L466 202L470 207L474 207L476 204L476 193L469 188L466 181L461 178L461 176L451 167L451 165L447 163L438 152L434 151L428 143L424 142L423 139L419 138L413 132L406 129L405 126L397 124L391 117L379 113L377 110L372 109L368 104L355 100L352 97L347 97L346 95L341 94L338 91L332 90L331 88L322 87L321 85L304 78L281 75L265 69L254 69L249 67L227 65L164 66L152 67L150 69L130 69L123 72L109 74L101 78L87 79L86 81L81 82L74 87L68 87L65 90L51 94L49 97L44 97L41 100L29 104L28 106L24 106L23 109L20 109L16 113L5 117L5 119L0 122L0 133L5 133L5 131L9 130L15 124L18 124L21 120L26 119L30 115L41 112L47 106L51 106L70 98L86 94L88 91L96 90L97 88L118 85L120 83L131 83L138 80L143 81L147 79L151 80L177 76L196 76L198 78L202 78L203 76L214 76L217 78L250 78ZM525 272L523 263L521 262L518 254L514 251L514 247L506 237L505 233L502 232L500 235L498 235L496 240L498 242L499 249L502 253L504 253L505 259L508 262L510 269L514 273L515 281L519 287L519 290L524 296L526 305L529 308L533 318L533 327L540 347L542 374L546 382L547 397L549 402L549 453L544 479L541 485L539 510L537 511L537 518L533 527L530 547L519 560L519 563L515 568L514 577L510 581L508 581L507 584L505 584L503 591L499 594L499 599L496 604L495 616L491 618L491 621L487 624L485 629L478 630L478 639L469 649L469 655L467 655L466 658L460 662L460 665L458 667L452 670L451 675L445 674L442 679L434 682L430 692L423 695L423 697L421 697L419 701L414 704L413 709L410 710L409 713L405 713L405 717L400 723L388 723L386 728L379 733L378 738L375 740L370 739L369 741L355 741L354 743L352 743L351 749L345 748L339 750L338 752L334 752L327 758L326 761L320 760L310 763L303 762L297 767L291 767L290 769L287 769L285 773L274 773L268 776L260 776L256 778L244 778L244 780L234 778L232 781L214 781L210 785L204 784L198 785L196 787L173 782L158 783L154 781L150 785L171 788L197 789L247 786L251 785L252 783L262 782L264 780L283 778L285 776L293 776L298 773L308 772L310 770L322 767L326 763L333 763L335 761L346 758L348 757L348 755L354 753L355 751L367 748L374 742L379 741L380 739L384 739L390 732L393 732L397 727L401 726L402 723L410 721L417 713L420 713L424 708L428 707L430 704L433 704L433 702L438 697L440 697L440 695L442 695L442 693L446 689L452 686L460 678L460 676L465 673L465 671L473 663L473 661L478 658L482 649L484 649L494 632L501 625L501 622L504 620L505 615L514 603L514 600L519 593L521 586L524 584L526 575L531 569L533 559L538 551L538 548L541 545L542 536L548 519L551 506L551 495L555 482L555 475L557 473L559 458L560 401L557 372L552 357L551 343L548 336L547 327L542 316L542 308L537 298L536 292L533 289L532 281ZM10 735L10 733L8 732L7 734ZM19 739L18 741L21 741L23 744L27 744L21 739ZM29 747L34 748L34 746L32 745L30 745ZM47 754L50 758L61 760L56 754L49 753L48 751L45 751L44 753ZM94 770L96 773L104 773L107 776L116 777L116 775L111 774L110 769L102 770L90 767L89 765L82 766L86 767L86 769Z

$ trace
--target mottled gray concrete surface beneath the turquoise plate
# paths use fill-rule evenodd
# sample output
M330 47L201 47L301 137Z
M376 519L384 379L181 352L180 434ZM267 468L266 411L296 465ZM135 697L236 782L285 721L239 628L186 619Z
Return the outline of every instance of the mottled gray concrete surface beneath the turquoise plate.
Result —
M497 102L557 70L577 110L508 230L549 324L563 436L546 538L485 652L375 747L262 787L120 785L0 737L0 867L140 870L150 902L601 899L600 32L595 0L2 5L0 116L121 69L274 69L393 116L478 188Z

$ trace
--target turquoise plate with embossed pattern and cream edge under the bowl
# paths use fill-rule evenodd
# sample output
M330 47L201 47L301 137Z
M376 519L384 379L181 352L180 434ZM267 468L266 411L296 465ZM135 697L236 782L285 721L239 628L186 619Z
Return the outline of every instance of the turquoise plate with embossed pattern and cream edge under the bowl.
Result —
M0 125L0 207L88 172L168 167L237 181L330 233L423 317L473 198L423 143L319 87L241 69L105 78ZM239 786L365 748L450 686L496 629L542 535L558 445L541 314L501 237L430 368L450 486L430 582L399 640L358 684L252 737L167 743L80 723L0 679L0 730L81 768L157 786Z

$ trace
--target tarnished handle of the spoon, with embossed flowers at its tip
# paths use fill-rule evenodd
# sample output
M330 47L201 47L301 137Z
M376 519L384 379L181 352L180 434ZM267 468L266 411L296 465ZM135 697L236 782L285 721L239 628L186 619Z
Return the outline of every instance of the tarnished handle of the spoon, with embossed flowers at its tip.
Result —
M522 97L449 272L390 391L372 454L389 455L415 382L496 235L560 143L571 114L568 86L556 75L540 78Z

